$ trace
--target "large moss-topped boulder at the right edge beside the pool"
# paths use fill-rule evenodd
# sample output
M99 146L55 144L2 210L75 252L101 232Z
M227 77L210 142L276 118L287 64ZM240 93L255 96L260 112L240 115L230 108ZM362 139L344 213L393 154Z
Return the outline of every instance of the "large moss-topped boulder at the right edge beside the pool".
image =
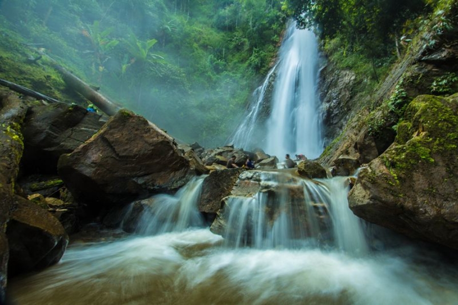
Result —
M349 193L357 216L458 249L458 94L418 96L395 142L359 173Z

